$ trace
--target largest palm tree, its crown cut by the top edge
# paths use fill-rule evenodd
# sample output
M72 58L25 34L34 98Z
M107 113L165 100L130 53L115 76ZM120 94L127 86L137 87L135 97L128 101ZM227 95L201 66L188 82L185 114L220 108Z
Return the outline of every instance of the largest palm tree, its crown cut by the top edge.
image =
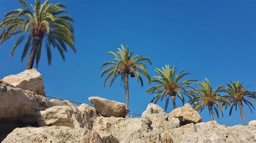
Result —
M25 0L18 0L24 8L7 12L0 23L0 30L3 29L0 34L0 44L14 36L19 36L11 49L10 58L17 46L27 39L21 57L23 61L30 50L26 69L33 68L35 59L38 66L44 42L49 65L52 60L51 45L58 49L63 61L65 61L64 51L67 51L66 45L76 52L74 30L70 24L73 22L72 17L63 14L67 12L64 4L49 4L49 1L40 4L39 0L35 0L35 5L31 5L32 9L30 9Z

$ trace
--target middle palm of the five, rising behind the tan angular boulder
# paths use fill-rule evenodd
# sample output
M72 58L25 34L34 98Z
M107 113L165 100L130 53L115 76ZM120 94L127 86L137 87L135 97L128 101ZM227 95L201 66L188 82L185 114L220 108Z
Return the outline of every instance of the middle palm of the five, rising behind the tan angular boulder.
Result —
M180 81L181 78L189 74L183 73L184 70L185 69L182 69L175 77L176 66L174 66L172 69L170 69L169 65L165 65L165 68L162 67L162 70L156 68L155 72L160 76L154 76L151 81L156 82L159 85L153 86L146 91L146 94L156 93L156 96L152 99L151 102L156 104L160 98L161 101L163 98L166 98L165 111L168 107L169 97L172 97L174 109L176 109L176 96L178 96L184 104L183 95L188 95L189 92L187 92L187 88L191 88L190 84L193 83L193 81L197 81L196 79Z

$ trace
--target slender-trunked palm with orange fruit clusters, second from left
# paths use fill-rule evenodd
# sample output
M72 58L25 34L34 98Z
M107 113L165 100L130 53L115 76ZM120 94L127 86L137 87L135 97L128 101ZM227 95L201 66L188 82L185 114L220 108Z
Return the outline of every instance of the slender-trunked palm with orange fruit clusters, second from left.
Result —
M147 73L146 66L141 62L147 62L151 64L151 60L149 58L144 58L141 55L135 55L132 57L133 51L129 51L129 47L126 46L126 49L123 45L121 48L117 48L118 52L114 53L112 51L108 52L108 54L112 54L114 56L114 60L111 62L104 62L100 67L109 65L108 68L104 69L101 73L101 77L104 74L106 75L106 79L104 81L104 87L108 80L110 80L110 87L113 84L114 80L117 76L121 76L121 85L124 82L125 95L126 95L126 103L125 107L128 108L129 103L129 74L131 77L136 77L137 82L141 82L141 87L143 87L143 81L139 73L144 75L147 78L147 81L150 82L150 75Z

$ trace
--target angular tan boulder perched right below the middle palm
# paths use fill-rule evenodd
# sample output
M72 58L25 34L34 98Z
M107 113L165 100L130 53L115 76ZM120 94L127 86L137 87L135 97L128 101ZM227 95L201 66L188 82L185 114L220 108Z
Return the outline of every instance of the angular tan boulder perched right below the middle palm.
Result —
M168 114L168 116L180 119L182 125L202 122L202 118L199 113L189 104L185 104L183 107L174 109Z

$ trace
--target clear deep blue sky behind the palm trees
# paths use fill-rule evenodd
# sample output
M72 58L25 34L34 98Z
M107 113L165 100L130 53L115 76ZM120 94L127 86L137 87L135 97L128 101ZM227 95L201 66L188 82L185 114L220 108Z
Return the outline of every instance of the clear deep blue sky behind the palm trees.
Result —
M34 1L28 1L34 3ZM51 1L60 2L59 0ZM75 19L77 53L69 50L66 61L53 49L52 65L48 66L45 50L37 70L44 77L48 95L89 103L88 97L125 102L125 91L117 79L113 87L103 87L100 64L111 61L108 51L117 51L120 44L129 45L135 54L151 58L154 68L176 65L191 73L187 78L202 81L207 77L212 87L230 80L251 84L255 91L256 2L255 1L61 1ZM21 7L16 1L0 0L0 18L5 12ZM21 72L26 61L20 62L22 46L14 57L8 56L14 40L0 46L0 78ZM23 44L22 44L23 45ZM144 79L145 80L145 79ZM154 84L152 84L154 85ZM142 113L153 95L130 80L130 109ZM186 100L187 102L188 100ZM164 102L158 102L164 107ZM255 105L255 103L254 103ZM177 106L182 103L177 99ZM173 109L169 104L167 112ZM243 124L240 112L217 119L225 125ZM256 119L246 106L247 123ZM203 122L212 120L208 109L200 113Z

